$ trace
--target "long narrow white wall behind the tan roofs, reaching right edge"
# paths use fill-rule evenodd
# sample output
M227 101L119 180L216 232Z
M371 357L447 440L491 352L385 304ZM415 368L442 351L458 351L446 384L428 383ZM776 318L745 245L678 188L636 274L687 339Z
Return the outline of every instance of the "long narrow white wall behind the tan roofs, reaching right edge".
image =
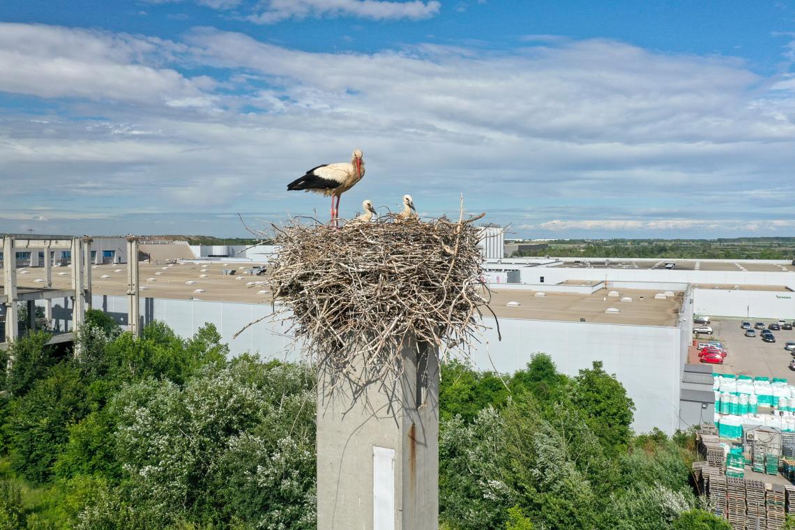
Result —
M560 283L564 280L657 281L678 284L795 285L795 272L764 273L739 270L667 269L572 269L568 267L527 267L522 283Z

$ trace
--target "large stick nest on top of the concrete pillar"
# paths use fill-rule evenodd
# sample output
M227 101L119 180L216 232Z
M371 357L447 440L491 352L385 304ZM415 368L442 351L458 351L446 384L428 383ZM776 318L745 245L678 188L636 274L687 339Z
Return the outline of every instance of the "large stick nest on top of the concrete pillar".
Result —
M269 284L276 312L292 322L304 354L333 375L394 380L412 335L437 351L468 353L490 296L480 231L471 224L482 216L274 227L280 249ZM351 368L355 355L364 356L364 370Z

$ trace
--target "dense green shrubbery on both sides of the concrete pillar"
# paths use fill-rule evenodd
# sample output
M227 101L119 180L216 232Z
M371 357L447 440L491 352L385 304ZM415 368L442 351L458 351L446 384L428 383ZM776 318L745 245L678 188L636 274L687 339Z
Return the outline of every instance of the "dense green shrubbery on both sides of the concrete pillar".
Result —
M91 311L79 358L14 346L0 411L4 528L315 528L312 371L227 360L212 326L140 339ZM443 528L725 528L686 450L634 436L600 363L536 355L511 377L452 362L440 388Z

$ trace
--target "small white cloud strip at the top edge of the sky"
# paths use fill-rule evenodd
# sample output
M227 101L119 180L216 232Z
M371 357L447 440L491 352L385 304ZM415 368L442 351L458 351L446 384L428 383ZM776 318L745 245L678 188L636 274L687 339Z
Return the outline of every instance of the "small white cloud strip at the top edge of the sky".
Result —
M408 18L421 20L439 14L437 0L266 0L264 10L248 17L258 24L274 24L289 18L361 17L371 20Z

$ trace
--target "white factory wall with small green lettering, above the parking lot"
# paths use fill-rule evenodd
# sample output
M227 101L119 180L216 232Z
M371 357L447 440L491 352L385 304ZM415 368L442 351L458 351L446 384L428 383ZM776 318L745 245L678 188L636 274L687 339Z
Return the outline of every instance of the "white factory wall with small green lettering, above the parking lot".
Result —
M795 292L694 289L696 315L795 319Z

